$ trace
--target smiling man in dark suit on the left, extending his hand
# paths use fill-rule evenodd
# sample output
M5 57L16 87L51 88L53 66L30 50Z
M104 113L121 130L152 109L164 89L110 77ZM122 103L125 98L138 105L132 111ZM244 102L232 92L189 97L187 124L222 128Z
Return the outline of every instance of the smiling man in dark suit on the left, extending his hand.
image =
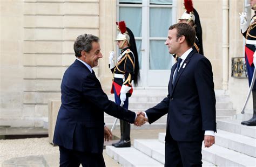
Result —
M60 166L105 166L103 143L111 138L104 128L104 112L141 126L143 116L110 101L103 92L92 67L102 58L99 38L91 34L77 37L75 62L66 69L61 85L60 106L53 143L59 145Z

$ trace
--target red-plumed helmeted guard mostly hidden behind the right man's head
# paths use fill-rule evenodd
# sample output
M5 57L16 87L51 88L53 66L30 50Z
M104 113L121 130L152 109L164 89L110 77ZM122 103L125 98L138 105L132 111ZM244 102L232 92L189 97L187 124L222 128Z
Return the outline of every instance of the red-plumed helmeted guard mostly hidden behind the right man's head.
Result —
M196 42L194 43L193 50L204 55L203 41L202 41L202 27L200 18L196 9L193 8L192 0L184 0L184 8L186 11L179 18L179 23L187 23L196 29ZM173 55L177 59L176 54Z

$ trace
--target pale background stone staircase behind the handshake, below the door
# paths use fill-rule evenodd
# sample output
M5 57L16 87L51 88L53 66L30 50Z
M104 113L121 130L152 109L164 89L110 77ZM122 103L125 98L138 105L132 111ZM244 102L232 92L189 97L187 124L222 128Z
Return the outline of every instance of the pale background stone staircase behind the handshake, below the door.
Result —
M131 98L129 98L129 110L133 112L141 112L156 106L161 100L166 98L167 89L135 89ZM215 90L216 95L216 116L218 120L231 119L235 115L235 110L232 109L232 103L225 92L222 90ZM114 101L114 95L109 95L109 99ZM104 113L105 123L112 127L115 118ZM162 116L153 124L145 124L142 127L136 127L131 124L131 129L165 129L167 114ZM119 121L117 121L116 128L120 129Z

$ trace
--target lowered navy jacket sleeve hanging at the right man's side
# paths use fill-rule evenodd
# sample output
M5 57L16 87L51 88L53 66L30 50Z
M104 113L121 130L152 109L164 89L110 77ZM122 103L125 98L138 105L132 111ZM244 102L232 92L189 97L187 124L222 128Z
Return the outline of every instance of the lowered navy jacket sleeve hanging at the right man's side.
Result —
M200 101L202 130L216 131L216 99L212 66L208 59L203 58L198 61L194 77Z

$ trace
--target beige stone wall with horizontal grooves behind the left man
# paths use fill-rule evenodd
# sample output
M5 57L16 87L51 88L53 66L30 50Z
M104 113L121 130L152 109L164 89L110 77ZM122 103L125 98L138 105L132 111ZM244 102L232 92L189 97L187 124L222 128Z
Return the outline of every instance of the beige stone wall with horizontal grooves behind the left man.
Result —
M1 5L6 24L1 24L0 126L41 127L48 100L60 99L63 73L75 60L73 41L83 33L99 36L99 0Z

